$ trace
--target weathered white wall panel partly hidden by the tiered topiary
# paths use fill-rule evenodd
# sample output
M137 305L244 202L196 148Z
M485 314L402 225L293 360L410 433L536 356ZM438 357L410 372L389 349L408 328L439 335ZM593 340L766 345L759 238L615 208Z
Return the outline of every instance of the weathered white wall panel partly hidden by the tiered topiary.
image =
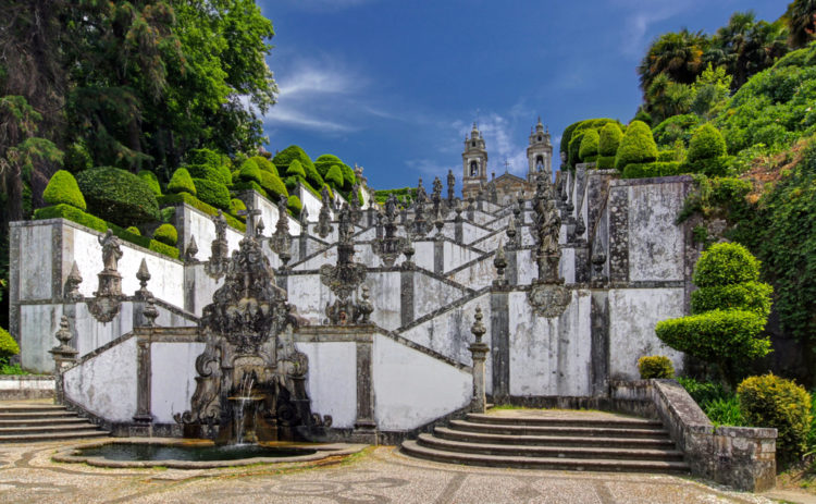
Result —
M683 354L666 346L655 335L660 320L682 317L683 288L614 288L609 291L609 377L636 380L638 359L665 355L676 371L683 368Z

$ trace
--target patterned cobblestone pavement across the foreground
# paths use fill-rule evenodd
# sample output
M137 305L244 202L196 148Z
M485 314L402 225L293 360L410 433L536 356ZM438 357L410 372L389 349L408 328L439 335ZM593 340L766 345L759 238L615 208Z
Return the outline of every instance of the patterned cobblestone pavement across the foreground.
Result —
M369 448L307 467L101 469L57 464L70 443L0 445L0 503L769 503L687 478L479 468ZM77 444L77 443L72 443Z

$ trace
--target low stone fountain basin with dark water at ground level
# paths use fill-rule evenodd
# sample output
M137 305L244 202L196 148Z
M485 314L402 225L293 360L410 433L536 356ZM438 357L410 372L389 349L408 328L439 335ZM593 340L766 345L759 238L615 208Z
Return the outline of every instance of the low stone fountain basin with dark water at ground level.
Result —
M84 463L96 467L168 467L208 469L252 464L292 464L345 456L361 444L262 443L215 445L209 440L116 439L70 446L53 455L54 462Z

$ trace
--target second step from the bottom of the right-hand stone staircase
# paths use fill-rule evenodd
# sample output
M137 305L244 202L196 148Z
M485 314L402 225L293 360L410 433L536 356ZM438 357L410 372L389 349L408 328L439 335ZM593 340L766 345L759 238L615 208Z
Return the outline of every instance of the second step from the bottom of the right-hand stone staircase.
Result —
M481 455L499 455L540 458L595 458L619 460L682 462L683 453L677 450L648 450L630 447L581 447L581 446L527 446L468 443L420 434L417 444L429 448Z

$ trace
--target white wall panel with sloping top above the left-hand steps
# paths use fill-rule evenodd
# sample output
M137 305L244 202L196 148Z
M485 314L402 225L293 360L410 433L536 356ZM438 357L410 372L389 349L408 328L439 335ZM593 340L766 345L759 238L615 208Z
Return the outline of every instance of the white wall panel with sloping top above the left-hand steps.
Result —
M136 414L136 339L102 352L64 373L65 397L111 421Z

